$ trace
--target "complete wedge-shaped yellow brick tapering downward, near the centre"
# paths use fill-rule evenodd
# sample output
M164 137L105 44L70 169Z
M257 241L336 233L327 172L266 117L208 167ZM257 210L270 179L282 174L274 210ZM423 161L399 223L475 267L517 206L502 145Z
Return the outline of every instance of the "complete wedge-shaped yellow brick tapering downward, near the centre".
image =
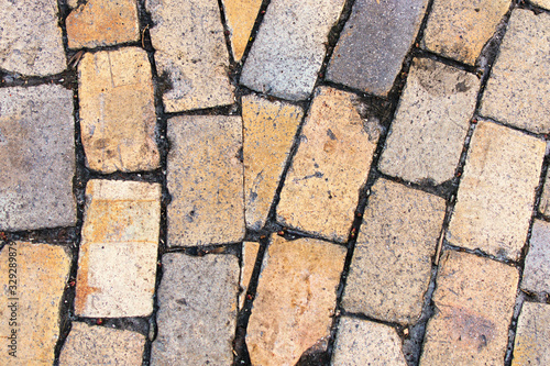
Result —
M297 106L252 95L242 98L244 215L251 229L265 224L302 117Z

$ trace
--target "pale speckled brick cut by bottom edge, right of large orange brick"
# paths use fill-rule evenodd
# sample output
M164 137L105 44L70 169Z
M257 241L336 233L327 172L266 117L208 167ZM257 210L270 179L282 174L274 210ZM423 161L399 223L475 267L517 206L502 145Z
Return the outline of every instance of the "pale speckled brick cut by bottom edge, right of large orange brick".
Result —
M395 329L366 320L343 317L338 326L331 365L406 366L402 340Z

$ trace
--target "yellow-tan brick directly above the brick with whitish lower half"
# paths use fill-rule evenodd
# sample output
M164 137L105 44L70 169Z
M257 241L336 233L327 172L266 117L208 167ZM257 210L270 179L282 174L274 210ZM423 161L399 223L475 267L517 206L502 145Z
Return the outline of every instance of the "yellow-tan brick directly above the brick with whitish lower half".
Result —
M78 67L80 131L89 168L101 173L160 166L155 103L145 51L86 54Z

